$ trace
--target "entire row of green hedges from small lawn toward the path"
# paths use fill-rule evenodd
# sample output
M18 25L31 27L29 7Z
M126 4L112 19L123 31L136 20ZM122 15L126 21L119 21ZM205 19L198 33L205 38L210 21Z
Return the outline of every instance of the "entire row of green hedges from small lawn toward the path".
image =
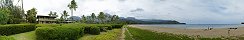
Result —
M37 40L76 40L86 34L98 35L103 29L112 29L108 24L64 24L57 27L36 29ZM105 31L105 30L104 30Z

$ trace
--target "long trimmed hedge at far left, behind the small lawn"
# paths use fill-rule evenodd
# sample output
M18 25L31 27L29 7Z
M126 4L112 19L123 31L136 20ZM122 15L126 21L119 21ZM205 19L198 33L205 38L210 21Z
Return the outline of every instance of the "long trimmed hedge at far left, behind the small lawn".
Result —
M0 35L12 35L28 31L33 31L36 29L35 24L11 24L11 25L1 25Z

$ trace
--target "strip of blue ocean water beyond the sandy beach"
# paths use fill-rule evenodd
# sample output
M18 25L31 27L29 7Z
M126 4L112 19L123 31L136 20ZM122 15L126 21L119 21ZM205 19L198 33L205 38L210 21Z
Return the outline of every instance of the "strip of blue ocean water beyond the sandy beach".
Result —
M180 29L207 29L207 28L236 28L244 27L243 24L136 24L148 27L169 27Z

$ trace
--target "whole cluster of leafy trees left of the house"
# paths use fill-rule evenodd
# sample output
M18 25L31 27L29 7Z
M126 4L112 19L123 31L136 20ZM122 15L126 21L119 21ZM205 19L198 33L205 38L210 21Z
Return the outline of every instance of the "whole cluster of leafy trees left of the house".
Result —
M12 0L0 0L0 24L36 23L36 9L25 14L20 6L13 5Z

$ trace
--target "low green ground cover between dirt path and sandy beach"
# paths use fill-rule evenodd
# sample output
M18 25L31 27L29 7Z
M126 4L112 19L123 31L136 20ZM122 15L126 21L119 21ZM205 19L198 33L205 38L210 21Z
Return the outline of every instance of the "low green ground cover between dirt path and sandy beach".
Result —
M186 35L174 35L170 33L156 33L149 30L127 27L135 40L194 40ZM128 35L128 34L126 34Z

